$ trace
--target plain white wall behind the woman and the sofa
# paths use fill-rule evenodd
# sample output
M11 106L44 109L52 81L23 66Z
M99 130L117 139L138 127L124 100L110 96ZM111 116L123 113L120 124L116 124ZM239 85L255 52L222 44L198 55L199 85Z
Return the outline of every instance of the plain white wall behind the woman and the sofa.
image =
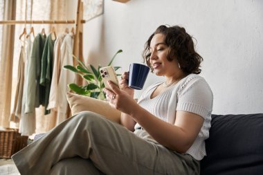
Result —
M161 24L184 26L197 39L214 93L213 113L263 113L263 1L105 0L104 14L84 24L84 57L105 66L142 62L145 41ZM145 86L163 77L149 75ZM136 92L136 97L140 95Z

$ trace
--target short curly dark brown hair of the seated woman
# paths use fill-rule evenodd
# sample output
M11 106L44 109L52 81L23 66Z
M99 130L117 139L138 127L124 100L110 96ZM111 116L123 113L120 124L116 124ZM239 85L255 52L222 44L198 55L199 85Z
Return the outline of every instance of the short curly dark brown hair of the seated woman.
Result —
M145 43L143 50L143 59L152 71L153 68L149 62L151 56L149 46L154 35L161 33L165 36L165 44L168 46L167 60L173 59L179 63L184 73L201 73L200 64L203 58L195 51L192 37L185 32L185 28L180 26L159 26Z

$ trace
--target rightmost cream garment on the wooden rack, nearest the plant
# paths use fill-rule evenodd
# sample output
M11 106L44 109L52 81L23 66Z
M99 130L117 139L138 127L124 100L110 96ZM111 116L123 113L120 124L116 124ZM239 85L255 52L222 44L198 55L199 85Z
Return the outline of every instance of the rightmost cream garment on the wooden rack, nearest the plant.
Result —
M53 84L56 91L51 94L53 98L50 101L50 107L57 111L57 125L67 118L68 102L66 92L69 91L68 84L75 82L75 73L63 68L65 65L73 65L73 33L66 34L60 47L60 73L57 84ZM53 86L51 86L53 89Z

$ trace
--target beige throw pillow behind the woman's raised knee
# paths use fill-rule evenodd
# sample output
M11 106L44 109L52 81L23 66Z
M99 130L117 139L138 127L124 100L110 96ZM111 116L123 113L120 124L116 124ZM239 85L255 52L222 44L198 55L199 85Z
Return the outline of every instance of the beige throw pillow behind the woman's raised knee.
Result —
M109 102L75 93L66 93L66 98L68 99L72 116L81 111L92 111L105 116L109 120L120 123L120 111L112 108Z

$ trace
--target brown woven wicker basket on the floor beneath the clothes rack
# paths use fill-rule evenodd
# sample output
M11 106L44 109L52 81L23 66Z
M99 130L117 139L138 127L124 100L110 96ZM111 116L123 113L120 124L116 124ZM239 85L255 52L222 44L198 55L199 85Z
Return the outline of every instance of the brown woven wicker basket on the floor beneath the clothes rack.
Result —
M27 142L28 136L21 136L18 129L0 128L0 158L10 158L26 147Z

